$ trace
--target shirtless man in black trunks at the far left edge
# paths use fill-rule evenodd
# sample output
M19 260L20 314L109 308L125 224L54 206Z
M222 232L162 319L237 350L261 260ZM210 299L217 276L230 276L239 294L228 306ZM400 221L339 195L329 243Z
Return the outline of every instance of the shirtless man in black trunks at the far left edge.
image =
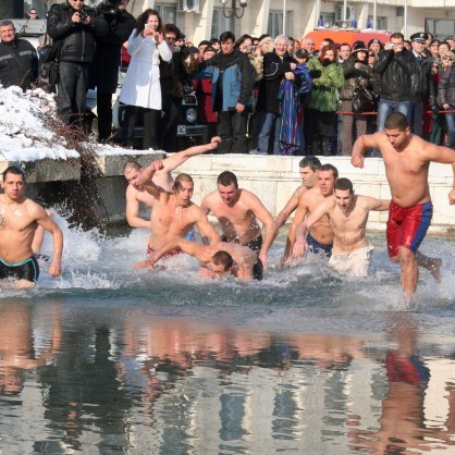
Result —
M9 287L35 286L39 266L32 244L38 225L52 234L53 258L49 273L53 278L60 276L62 231L41 206L23 196L25 176L22 170L13 165L7 168L1 187L4 194L0 195L0 280L14 279ZM4 286L4 282L0 286Z

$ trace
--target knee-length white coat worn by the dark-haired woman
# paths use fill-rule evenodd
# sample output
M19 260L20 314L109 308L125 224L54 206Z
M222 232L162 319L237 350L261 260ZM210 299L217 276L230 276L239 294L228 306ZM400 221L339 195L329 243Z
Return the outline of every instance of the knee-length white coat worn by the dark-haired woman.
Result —
M128 38L131 62L120 91L119 100L125 104L161 110L160 56L171 61L172 51L163 40L157 46L150 36L136 36L135 28Z

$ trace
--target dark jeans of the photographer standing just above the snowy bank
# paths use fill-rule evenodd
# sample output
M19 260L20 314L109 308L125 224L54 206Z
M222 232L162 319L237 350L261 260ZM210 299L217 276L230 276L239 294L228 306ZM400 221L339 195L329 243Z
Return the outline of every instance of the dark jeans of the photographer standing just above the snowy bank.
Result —
M88 63L60 62L58 113L65 123L83 126L88 86Z

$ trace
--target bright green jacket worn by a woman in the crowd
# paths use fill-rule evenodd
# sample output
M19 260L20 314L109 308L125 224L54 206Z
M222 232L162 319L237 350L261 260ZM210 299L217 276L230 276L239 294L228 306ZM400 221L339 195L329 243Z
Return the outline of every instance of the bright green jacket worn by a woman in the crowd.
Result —
M319 70L321 76L312 81L313 88L308 109L319 112L335 112L337 109L337 89L343 87L343 67L337 63L322 66L317 58L309 59L308 70Z

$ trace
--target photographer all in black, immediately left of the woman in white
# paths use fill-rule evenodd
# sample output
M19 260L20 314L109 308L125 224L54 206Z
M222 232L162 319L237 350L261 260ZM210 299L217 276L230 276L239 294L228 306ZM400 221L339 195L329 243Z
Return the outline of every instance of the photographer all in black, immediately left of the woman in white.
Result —
M108 23L108 33L97 38L97 49L89 70L89 88L97 87L98 142L112 135L112 94L115 93L121 65L121 50L136 19L126 11L128 0L104 0L98 13Z

